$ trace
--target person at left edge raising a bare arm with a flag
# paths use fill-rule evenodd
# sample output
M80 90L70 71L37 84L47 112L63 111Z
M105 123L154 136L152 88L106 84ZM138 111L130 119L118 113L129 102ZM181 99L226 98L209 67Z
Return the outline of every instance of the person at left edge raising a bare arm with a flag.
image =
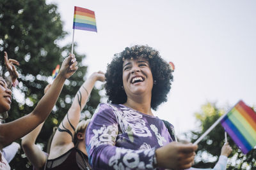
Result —
M4 53L4 60L6 67L10 73L12 82L17 80L19 74L13 64L13 60L8 59L7 53ZM28 115L18 118L13 122L8 122L6 124L0 124L0 149L3 149L4 146L9 145L16 139L22 138L33 129L35 129L39 124L44 122L51 113L54 104L56 103L60 92L63 88L64 82L67 78L72 76L78 69L76 58L74 55L69 55L63 60L60 73L52 83L51 89L45 94L42 99L38 102L35 109ZM8 88L8 83L4 80L3 76L0 76L0 115L6 113L10 110L12 103L12 91ZM8 162L0 155L0 166L3 169L10 169Z

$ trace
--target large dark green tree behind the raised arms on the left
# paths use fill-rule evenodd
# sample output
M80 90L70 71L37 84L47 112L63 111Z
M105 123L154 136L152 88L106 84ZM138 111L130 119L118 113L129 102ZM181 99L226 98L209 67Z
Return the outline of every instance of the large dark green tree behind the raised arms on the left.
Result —
M55 4L45 0L0 0L0 54L1 71L4 73L4 51L8 57L20 62L19 85L14 90L10 122L30 113L44 95L44 87L51 80L52 70L70 53L71 45L59 46L58 41L65 38L60 13ZM67 113L77 90L83 84L86 66L81 64L85 55L75 53L79 69L65 82L56 107L47 118L37 142L46 150L47 139L52 128L60 124ZM6 74L8 75L8 74ZM93 113L99 104L99 90L94 89L90 101L84 107L83 115ZM20 142L20 141L19 141ZM21 150L11 162L13 169L31 169Z

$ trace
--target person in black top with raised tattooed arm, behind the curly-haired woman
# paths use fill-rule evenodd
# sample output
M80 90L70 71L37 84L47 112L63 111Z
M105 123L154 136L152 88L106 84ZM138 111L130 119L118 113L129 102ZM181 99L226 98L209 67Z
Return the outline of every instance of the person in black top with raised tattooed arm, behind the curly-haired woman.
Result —
M44 169L44 166L45 169L90 169L84 146L84 132L90 119L81 122L79 120L95 82L104 80L104 73L98 71L84 81L67 115L54 134L48 158L47 154L35 145L43 124L22 139L22 148L34 169ZM45 87L45 92L49 89L51 89L51 85Z

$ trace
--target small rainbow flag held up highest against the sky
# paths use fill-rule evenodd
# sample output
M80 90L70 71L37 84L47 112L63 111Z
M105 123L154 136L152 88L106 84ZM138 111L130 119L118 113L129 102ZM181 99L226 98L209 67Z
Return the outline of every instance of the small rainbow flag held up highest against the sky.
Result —
M94 11L75 6L73 29L97 32Z

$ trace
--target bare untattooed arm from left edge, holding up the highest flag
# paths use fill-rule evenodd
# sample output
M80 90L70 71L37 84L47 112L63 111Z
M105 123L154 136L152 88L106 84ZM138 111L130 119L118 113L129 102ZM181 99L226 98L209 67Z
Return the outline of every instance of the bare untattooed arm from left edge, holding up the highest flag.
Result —
M76 72L78 68L76 65L77 62L74 55L69 55L63 60L60 73L52 83L49 92L42 97L35 109L24 117L0 125L0 148L28 134L44 122L60 96L65 80Z

